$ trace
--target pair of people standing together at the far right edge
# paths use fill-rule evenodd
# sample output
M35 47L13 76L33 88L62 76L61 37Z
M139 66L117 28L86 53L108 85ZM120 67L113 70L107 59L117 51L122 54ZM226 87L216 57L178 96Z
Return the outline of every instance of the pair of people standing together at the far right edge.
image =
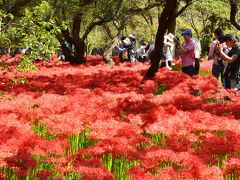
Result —
M211 43L208 59L213 59L212 75L220 77L227 89L240 89L240 45L232 34L224 35L222 29L214 31L215 40Z

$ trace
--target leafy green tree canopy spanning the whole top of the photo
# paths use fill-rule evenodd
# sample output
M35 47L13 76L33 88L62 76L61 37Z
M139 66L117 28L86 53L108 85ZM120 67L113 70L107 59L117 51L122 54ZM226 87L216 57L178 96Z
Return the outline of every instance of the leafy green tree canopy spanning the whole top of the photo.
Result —
M164 13L167 2L164 0L2 0L0 1L1 54L14 53L18 48L31 46L36 52L31 58L38 58L62 49L70 62L84 63L84 56L93 48L108 47L107 49L111 50L117 41L117 39L113 41L114 38L119 39L131 32L137 34L138 40L153 41L160 25L159 18ZM174 33L178 33L177 30L181 28L193 29L194 35L202 40L205 51L216 27L239 36L240 3L238 1L176 0L175 2L175 13L178 14L171 20L169 26L172 26L176 19L171 31L175 29ZM72 49L67 47L69 44Z

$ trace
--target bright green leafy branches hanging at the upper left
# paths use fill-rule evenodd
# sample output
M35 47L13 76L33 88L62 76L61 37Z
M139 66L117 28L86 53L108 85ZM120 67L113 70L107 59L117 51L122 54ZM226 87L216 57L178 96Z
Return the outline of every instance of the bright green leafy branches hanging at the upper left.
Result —
M57 51L55 33L59 29L54 23L54 16L47 1L42 1L35 7L25 8L24 16L21 18L13 17L11 14L5 14L4 17L11 21L2 24L5 31L2 30L0 33L2 37L0 45L11 48L12 52L19 48L27 48L24 65L30 62L29 59L47 60Z

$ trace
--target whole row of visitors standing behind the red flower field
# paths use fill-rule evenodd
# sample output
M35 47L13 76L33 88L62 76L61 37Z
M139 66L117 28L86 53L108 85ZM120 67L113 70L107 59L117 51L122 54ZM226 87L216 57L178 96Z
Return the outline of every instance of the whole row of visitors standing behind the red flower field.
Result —
M201 44L193 37L191 29L181 32L184 43L179 38L169 33L164 36L163 58L159 67L172 69L175 53L181 57L182 72L193 76L199 73ZM240 45L238 39L232 34L224 35L220 28L214 31L215 39L211 42L208 52L208 60L213 60L212 75L217 79L220 77L223 86L227 89L240 89ZM136 36L130 34L124 37L119 46L119 58L121 62L145 62L153 58L154 44L143 42L136 49Z

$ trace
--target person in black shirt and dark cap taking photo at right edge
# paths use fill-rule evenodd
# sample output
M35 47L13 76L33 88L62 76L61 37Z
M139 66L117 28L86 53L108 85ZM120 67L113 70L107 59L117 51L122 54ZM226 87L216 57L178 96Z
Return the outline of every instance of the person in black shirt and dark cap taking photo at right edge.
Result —
M224 53L224 49L221 44L216 47L216 53L221 59L228 63L225 71L225 76L230 80L230 88L236 88L239 85L239 72L240 72L240 45L238 40L232 35L227 34L224 36L224 41L228 48L231 48L228 54Z

